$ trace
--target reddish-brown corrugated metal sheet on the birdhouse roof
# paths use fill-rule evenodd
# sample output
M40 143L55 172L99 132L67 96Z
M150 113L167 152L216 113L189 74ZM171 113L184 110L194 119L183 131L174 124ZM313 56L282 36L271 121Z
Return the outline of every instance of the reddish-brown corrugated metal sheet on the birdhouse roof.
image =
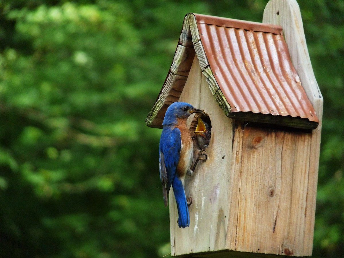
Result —
M200 14L195 17L209 65L231 112L319 122L279 26Z

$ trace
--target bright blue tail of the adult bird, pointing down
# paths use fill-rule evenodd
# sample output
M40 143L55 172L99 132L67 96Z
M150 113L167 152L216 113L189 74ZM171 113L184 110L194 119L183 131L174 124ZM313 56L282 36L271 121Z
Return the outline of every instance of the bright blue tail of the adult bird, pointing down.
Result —
M182 181L178 178L177 175L174 176L173 182L173 193L174 198L177 202L177 208L178 208L178 225L179 227L189 227L190 225L190 215L189 215L189 208L187 207L185 192L184 192L184 186L182 184Z

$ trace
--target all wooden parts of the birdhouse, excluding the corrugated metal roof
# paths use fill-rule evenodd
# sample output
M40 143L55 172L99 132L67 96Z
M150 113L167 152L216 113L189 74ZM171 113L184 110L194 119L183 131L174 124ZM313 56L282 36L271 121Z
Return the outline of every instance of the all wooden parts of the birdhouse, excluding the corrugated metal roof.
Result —
M193 14L184 21L187 22L171 66L179 75L170 73L166 79L156 103L160 110L153 115L160 119L170 103L189 102L208 114L212 137L206 151L208 160L200 161L195 173L186 176L184 182L186 196L193 198L190 227L178 227L178 212L173 192L170 193L172 256L311 255L323 100L296 1L271 0L263 22L283 27L293 65L320 120L313 131L257 127L226 117L230 107L202 53ZM185 67L192 59L186 51L191 53L191 42L197 57L194 56L186 77ZM192 117L188 125L191 120Z

